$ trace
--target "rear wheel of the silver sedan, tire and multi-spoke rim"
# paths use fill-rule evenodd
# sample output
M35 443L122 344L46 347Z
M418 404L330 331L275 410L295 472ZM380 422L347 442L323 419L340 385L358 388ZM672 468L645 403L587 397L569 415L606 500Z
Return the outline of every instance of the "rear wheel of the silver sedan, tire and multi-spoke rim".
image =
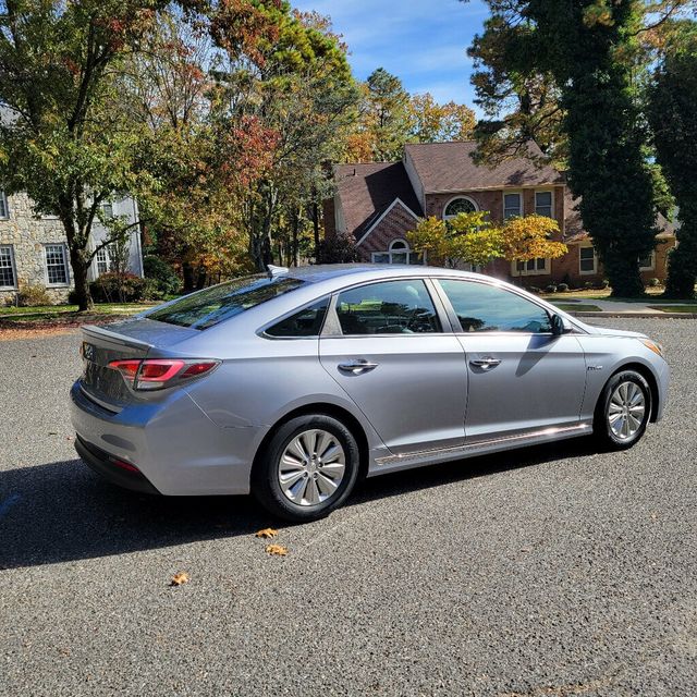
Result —
M252 472L252 492L271 514L305 523L325 517L351 494L359 470L355 437L323 414L278 428Z

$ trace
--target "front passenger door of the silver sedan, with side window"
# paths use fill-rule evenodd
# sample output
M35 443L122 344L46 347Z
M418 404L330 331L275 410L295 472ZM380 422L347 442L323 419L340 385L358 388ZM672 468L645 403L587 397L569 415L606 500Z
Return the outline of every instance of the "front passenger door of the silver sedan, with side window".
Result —
M540 305L486 282L440 281L461 325L467 442L576 426L586 362L573 333L552 333Z

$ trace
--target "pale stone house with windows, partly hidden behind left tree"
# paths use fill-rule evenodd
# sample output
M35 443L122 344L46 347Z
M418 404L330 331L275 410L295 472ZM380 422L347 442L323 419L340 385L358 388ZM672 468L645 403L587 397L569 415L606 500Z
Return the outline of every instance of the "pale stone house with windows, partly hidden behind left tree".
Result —
M106 216L123 217L129 223L137 220L137 204L123 198L105 204ZM108 232L103 225L93 225L91 245L103 241ZM94 248L94 246L93 246ZM107 247L95 256L88 279L95 280L111 268ZM143 276L140 235L137 228L129 239L127 270ZM73 288L68 242L63 227L54 217L36 218L26 194L5 196L0 191L0 305L13 302L26 286L45 288L53 303L64 303Z

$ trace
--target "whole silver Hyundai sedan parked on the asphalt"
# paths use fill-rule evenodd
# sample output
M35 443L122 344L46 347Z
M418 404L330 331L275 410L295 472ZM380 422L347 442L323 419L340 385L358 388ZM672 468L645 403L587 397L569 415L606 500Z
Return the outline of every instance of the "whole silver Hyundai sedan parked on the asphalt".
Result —
M269 267L84 327L75 447L169 496L253 492L309 521L362 476L661 418L670 370L644 334L589 327L493 278L420 266Z

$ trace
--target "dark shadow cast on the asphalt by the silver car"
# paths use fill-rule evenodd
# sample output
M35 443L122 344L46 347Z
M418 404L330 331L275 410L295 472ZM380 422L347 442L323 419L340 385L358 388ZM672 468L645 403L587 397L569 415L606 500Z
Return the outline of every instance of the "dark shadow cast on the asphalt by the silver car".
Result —
M365 480L347 505L584 456L586 439ZM0 473L0 570L252 535L273 521L253 497L154 497L120 489L80 460Z

